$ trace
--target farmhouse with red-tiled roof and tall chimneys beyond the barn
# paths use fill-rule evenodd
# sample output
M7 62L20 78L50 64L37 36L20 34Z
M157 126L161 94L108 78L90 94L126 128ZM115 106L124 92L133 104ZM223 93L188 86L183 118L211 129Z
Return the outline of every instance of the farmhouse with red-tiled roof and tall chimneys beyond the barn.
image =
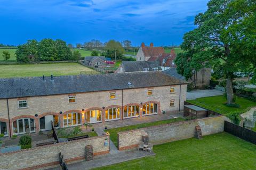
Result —
M145 43L141 43L137 53L137 61L158 62L162 70L175 67L175 57L174 49L171 49L171 53L165 53L163 47L154 47L153 43L150 43L150 47L145 46Z

